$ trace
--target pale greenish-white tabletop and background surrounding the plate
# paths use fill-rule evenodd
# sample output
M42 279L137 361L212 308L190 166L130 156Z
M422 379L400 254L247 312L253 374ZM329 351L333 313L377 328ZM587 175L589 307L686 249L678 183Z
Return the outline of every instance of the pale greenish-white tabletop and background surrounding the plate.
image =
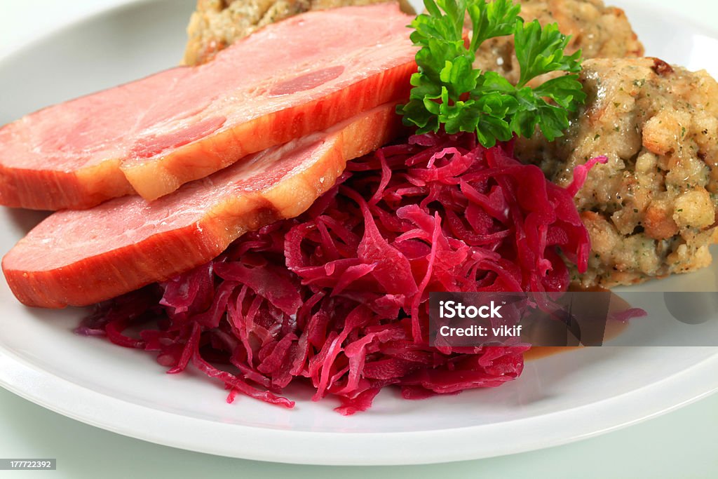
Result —
M48 29L120 3L0 0L0 57ZM718 20L713 0L645 3L699 22ZM718 395L547 450L441 465L339 468L234 460L153 445L67 419L0 389L0 457L57 458L57 471L0 471L0 478L718 478Z

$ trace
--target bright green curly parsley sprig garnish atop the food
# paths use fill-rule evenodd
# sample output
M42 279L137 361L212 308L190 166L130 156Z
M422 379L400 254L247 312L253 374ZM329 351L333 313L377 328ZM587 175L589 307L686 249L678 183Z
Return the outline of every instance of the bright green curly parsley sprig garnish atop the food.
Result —
M537 20L524 22L521 6L512 0L424 0L426 14L411 27L411 41L419 70L411 77L409 103L398 106L404 124L417 133L449 134L475 131L480 143L492 147L514 134L531 136L536 126L553 141L569 126L569 112L586 99L578 81L581 52L565 56L569 37L556 24L541 27ZM472 24L470 39L464 37L464 19ZM475 52L482 42L513 34L521 68L517 85L502 75L474 68ZM528 86L545 73L569 75Z

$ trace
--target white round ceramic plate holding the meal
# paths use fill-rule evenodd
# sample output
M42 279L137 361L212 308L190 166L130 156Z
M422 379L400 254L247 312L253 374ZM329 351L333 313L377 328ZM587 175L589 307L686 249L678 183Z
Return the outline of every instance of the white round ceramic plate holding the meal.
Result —
M174 64L194 1L178 3L135 2L0 60L0 123ZM630 17L651 55L718 73L716 60L701 63L718 50L714 35L632 5ZM0 251L40 217L1 210ZM649 287L714 287L717 271ZM370 411L354 417L333 412L332 400L309 401L302 388L287 391L299 399L294 410L243 397L230 405L204 376L168 376L147 353L73 335L81 315L22 307L3 280L0 384L114 432L258 460L381 465L503 455L607 432L718 389L718 348L592 348L529 362L521 378L498 389L425 401L383 391Z

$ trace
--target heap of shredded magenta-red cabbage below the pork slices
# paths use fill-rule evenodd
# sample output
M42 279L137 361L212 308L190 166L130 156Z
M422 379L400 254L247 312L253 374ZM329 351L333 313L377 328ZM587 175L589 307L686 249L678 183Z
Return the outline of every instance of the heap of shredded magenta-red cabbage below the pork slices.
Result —
M426 134L349 162L306 213L235 241L169 282L98 304L78 332L157 352L179 373L218 378L228 401L279 396L299 378L337 411L367 409L397 385L406 399L499 386L528 345L431 348L430 291L565 291L561 255L587 266L572 194L510 144ZM139 328L139 338L123 331Z

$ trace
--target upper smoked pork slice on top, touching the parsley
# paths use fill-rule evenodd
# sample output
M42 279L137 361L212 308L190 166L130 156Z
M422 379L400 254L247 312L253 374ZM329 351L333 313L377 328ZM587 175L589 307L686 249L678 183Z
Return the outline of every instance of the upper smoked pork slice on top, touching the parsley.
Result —
M45 108L0 129L0 204L88 208L166 195L241 157L408 97L411 18L354 6L271 24L199 67Z

